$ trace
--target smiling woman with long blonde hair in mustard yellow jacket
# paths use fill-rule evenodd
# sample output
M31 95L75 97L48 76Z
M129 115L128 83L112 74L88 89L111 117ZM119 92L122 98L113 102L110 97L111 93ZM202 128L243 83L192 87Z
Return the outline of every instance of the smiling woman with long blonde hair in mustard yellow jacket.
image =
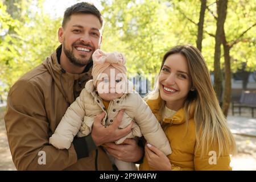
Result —
M172 154L150 143L141 170L230 170L236 151L207 64L193 46L176 46L164 55L158 87L147 104L161 123Z

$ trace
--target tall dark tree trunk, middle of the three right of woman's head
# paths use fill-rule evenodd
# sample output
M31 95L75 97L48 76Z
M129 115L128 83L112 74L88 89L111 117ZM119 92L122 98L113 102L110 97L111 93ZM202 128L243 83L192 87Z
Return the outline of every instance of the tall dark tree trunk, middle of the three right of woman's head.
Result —
M220 68L221 43L226 20L226 9L228 0L217 1L217 28L215 36L215 52L214 52L214 89L217 94L218 101L221 103L222 96L222 72Z

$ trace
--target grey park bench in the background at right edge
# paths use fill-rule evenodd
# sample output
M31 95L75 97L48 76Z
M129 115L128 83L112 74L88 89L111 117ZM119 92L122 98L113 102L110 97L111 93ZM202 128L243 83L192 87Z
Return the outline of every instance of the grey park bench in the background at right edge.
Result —
M238 107L238 112L241 115L241 108L251 108L251 117L254 117L254 109L256 108L256 92L243 91L239 102L232 102L232 115L234 115L234 108Z

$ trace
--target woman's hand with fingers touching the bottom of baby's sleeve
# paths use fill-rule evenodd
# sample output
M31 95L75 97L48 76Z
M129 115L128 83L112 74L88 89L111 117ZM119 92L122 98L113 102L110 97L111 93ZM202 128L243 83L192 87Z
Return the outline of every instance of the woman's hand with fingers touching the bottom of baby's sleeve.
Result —
M145 145L145 156L151 168L158 171L171 170L171 163L167 156L149 143Z

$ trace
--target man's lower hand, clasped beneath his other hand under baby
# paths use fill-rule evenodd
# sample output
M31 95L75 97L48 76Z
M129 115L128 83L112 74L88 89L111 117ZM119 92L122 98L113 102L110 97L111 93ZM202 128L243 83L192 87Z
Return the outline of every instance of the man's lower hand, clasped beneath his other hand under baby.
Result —
M105 143L104 148L114 158L125 162L137 162L143 156L143 148L134 139L125 139L122 144Z

